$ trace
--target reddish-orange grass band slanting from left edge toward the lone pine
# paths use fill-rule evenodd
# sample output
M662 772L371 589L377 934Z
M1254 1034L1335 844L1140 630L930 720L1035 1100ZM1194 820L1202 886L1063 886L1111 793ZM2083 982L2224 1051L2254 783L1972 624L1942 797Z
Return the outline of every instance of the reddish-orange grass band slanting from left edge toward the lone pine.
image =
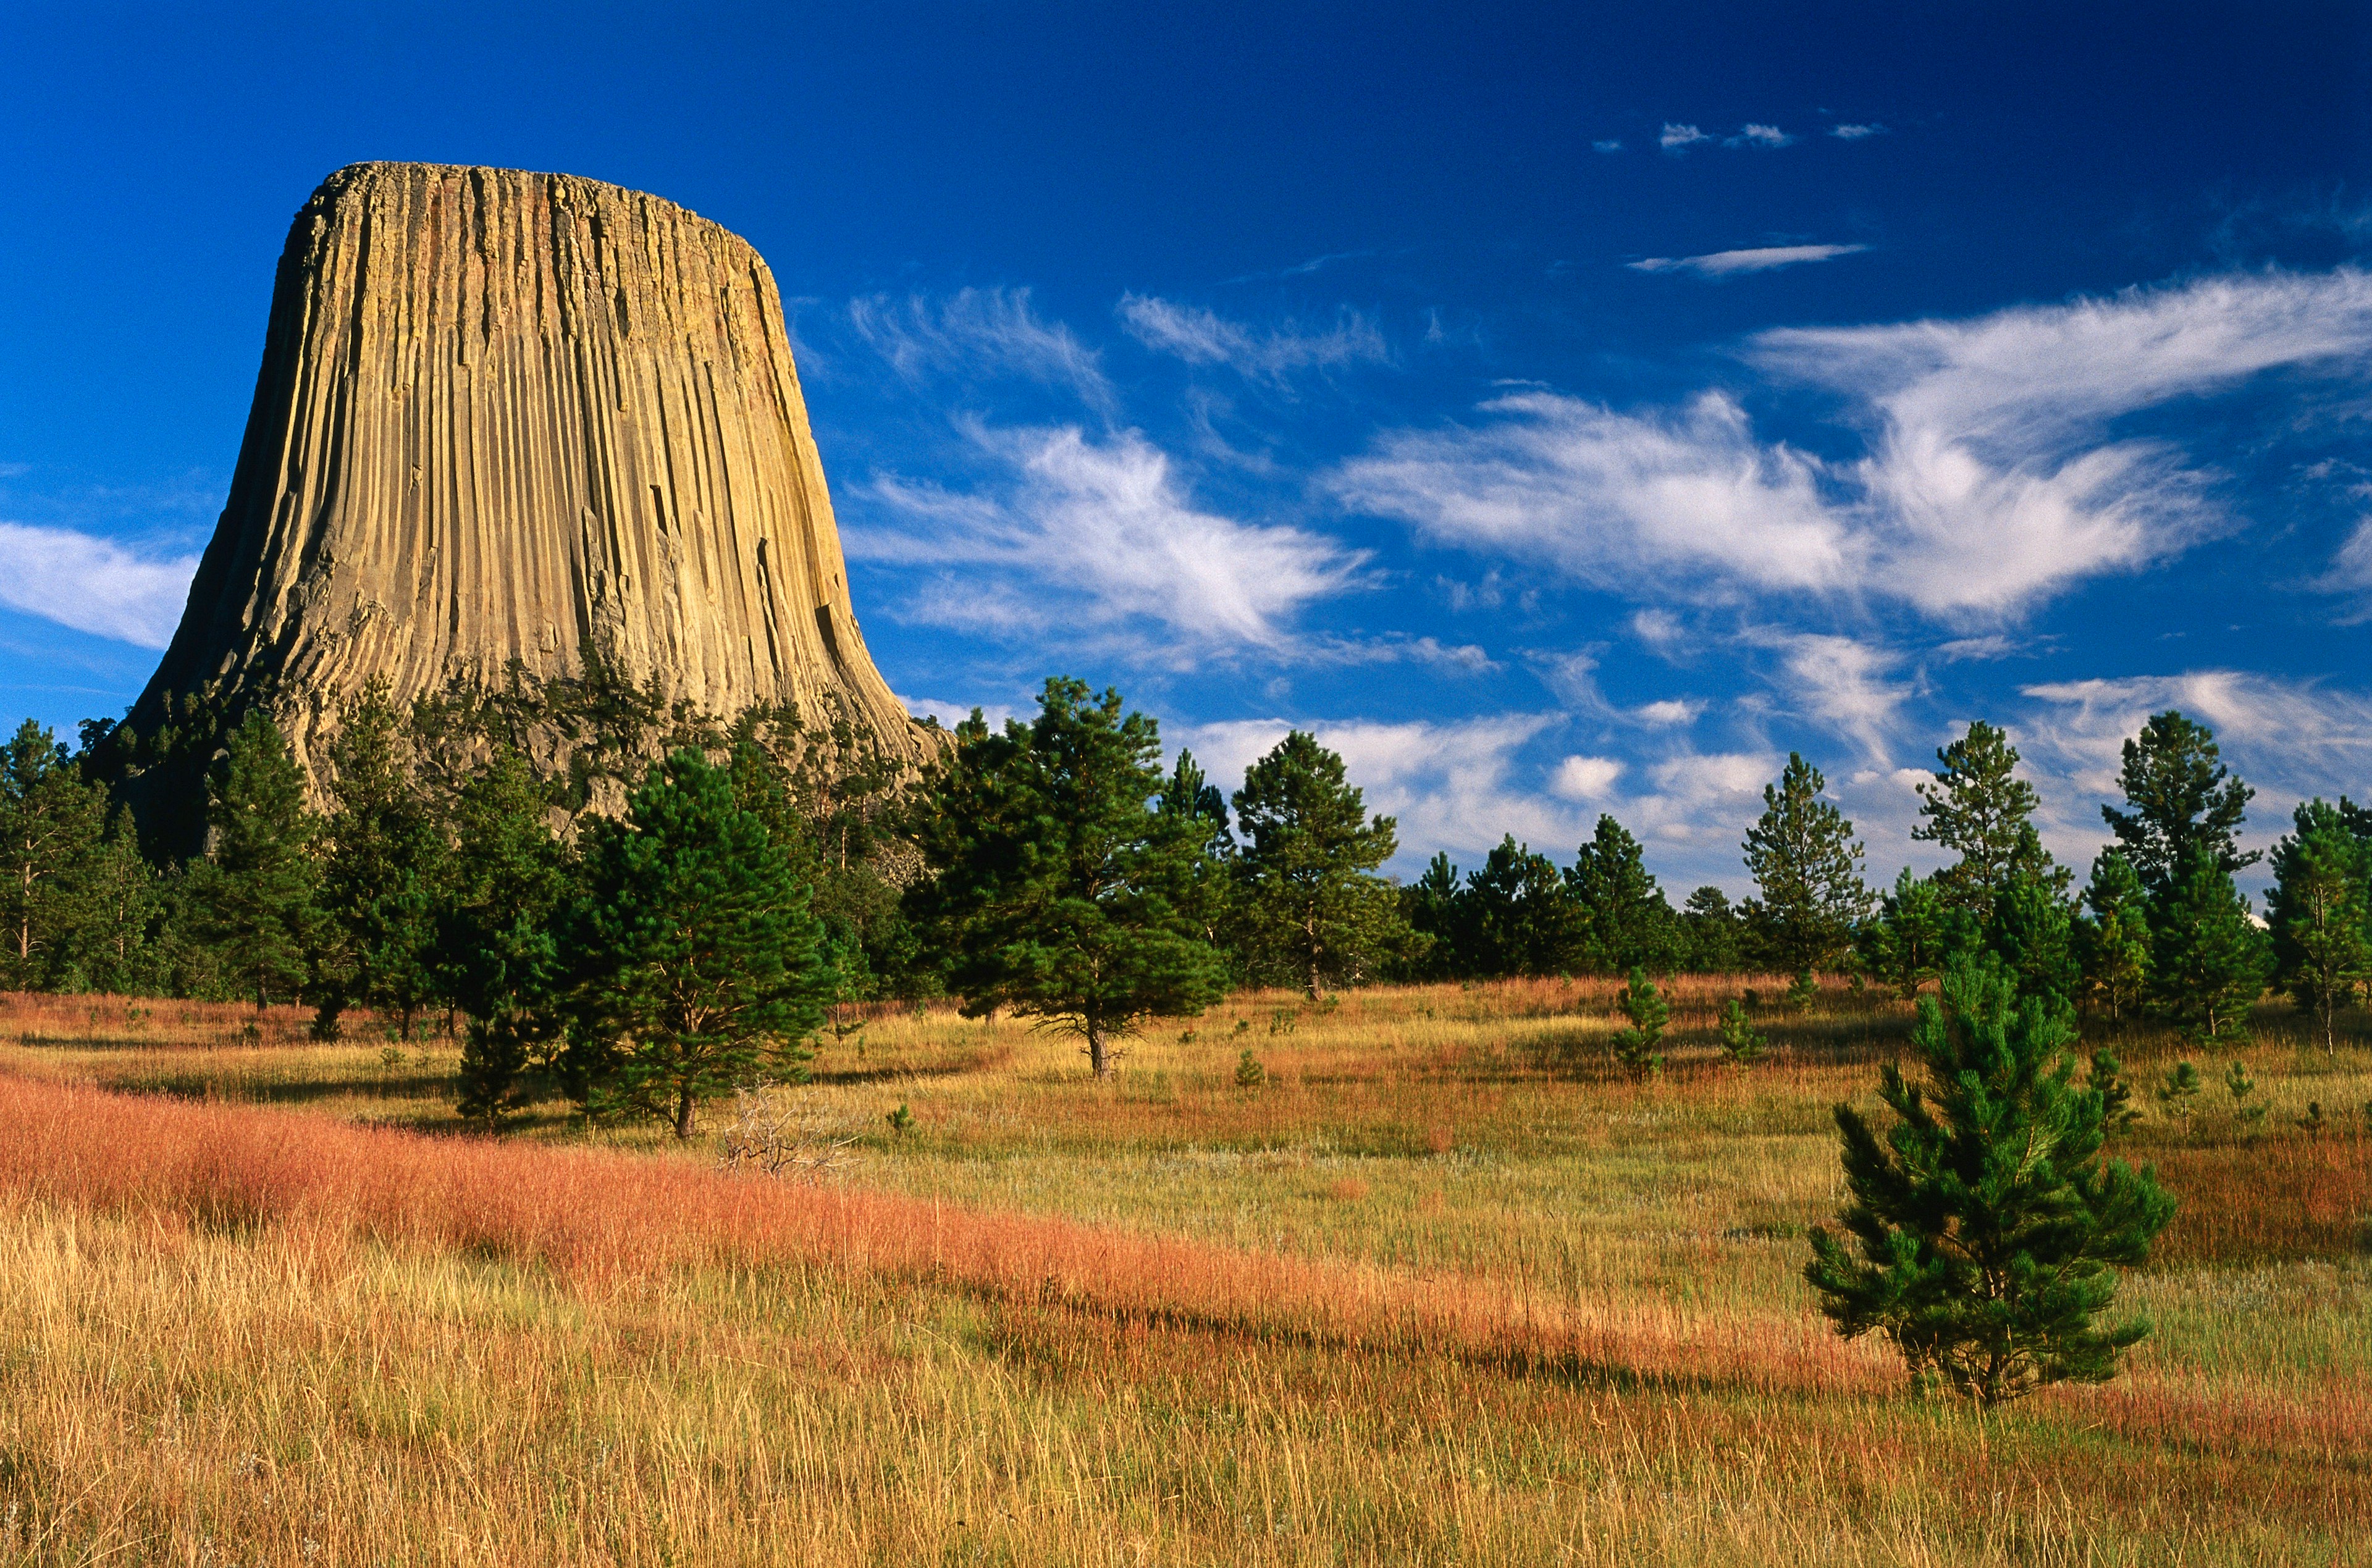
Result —
M0 1079L0 1188L197 1224L320 1224L631 1288L671 1267L821 1264L1127 1319L1741 1388L1876 1388L1810 1321L1580 1307L1516 1288L1243 1253L1039 1215L733 1177L598 1148L351 1127Z

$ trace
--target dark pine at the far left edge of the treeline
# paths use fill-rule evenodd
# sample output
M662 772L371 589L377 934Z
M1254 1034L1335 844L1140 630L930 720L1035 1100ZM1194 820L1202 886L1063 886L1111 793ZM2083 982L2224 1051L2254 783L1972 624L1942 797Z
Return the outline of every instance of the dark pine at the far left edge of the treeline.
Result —
M107 792L26 719L0 750L0 984L45 989L74 965L107 835Z

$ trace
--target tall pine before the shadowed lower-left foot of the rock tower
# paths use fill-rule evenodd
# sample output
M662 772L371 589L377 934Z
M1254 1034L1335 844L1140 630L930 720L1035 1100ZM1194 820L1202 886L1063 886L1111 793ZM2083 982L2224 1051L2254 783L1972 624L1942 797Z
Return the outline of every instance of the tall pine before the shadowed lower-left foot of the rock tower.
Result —
M320 930L320 818L280 726L249 709L206 778L206 861L192 868L199 932L225 975L263 1008L296 996Z

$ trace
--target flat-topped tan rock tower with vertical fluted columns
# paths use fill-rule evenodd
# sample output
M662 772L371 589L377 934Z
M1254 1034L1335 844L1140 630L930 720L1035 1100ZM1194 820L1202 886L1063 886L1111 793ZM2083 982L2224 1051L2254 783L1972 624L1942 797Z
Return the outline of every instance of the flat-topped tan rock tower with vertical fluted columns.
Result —
M263 370L166 693L266 700L299 754L372 676L593 655L731 714L935 745L849 607L773 275L671 202L356 164L289 228Z

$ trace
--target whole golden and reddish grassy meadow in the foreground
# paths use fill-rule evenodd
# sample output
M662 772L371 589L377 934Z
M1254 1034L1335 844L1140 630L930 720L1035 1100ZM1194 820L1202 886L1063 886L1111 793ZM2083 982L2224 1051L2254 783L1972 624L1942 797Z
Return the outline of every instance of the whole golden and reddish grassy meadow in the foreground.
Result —
M434 1032L7 996L0 1561L2372 1561L2360 1020L2265 1003L2258 1120L2227 1056L2149 1105L2156 1333L1981 1416L1798 1276L1907 1003L1734 1070L1743 984L1651 1082L1611 982L1243 994L1108 1084L875 1008L771 1096L799 1179L719 1169L731 1105L472 1136Z

